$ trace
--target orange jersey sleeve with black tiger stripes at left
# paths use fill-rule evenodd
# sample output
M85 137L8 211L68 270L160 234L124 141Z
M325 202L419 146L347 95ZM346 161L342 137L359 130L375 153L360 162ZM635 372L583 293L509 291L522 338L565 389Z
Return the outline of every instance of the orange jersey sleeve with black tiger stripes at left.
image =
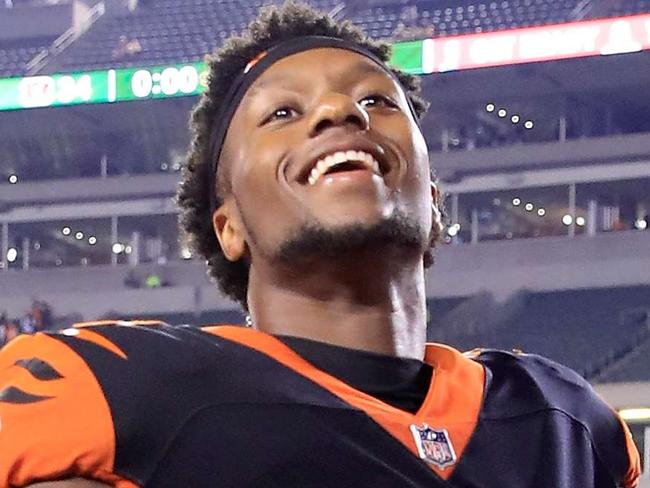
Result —
M136 487L112 472L111 412L86 363L45 334L0 352L0 486L84 477Z

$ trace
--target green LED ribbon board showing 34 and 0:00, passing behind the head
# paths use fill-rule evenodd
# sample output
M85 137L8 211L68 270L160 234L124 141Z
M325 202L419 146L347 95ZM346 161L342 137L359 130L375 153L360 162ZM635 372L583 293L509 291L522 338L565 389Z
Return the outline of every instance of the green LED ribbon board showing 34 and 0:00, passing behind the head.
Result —
M391 62L421 73L422 41L396 44ZM0 110L197 95L207 86L204 63L0 79Z

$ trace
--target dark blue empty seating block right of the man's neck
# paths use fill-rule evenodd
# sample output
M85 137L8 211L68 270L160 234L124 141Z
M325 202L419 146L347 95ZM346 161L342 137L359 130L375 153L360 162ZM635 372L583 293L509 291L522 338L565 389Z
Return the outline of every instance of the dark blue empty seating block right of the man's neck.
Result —
M649 286L521 292L505 303L477 295L429 309L429 340L541 354L599 381L627 378L650 357ZM634 375L649 380L650 364Z

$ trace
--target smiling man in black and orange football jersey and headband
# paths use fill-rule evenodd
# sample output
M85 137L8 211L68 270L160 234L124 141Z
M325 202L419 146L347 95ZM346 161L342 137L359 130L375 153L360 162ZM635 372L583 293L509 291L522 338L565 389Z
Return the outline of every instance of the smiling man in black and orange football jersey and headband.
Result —
M296 5L217 52L178 200L250 327L14 341L2 486L636 486L629 432L577 374L425 343L439 194L417 84L387 61Z

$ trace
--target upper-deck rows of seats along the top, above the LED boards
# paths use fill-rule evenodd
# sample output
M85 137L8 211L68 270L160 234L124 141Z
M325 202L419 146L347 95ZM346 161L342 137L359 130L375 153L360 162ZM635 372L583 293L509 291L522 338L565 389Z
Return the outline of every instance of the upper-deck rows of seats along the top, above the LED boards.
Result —
M151 0L132 13L101 18L61 56L61 69L196 61L241 32L259 8L273 0ZM312 0L324 11L349 18L371 37L405 40L554 24L576 20L580 0L441 0L368 3ZM589 16L650 11L650 0L594 0ZM373 5L373 2L370 2ZM50 40L51 41L51 40ZM32 45L33 43L33 45ZM20 48L0 50L0 76L24 74L25 63L48 42L23 40ZM29 46L29 47L25 47ZM47 68L46 68L47 69Z

